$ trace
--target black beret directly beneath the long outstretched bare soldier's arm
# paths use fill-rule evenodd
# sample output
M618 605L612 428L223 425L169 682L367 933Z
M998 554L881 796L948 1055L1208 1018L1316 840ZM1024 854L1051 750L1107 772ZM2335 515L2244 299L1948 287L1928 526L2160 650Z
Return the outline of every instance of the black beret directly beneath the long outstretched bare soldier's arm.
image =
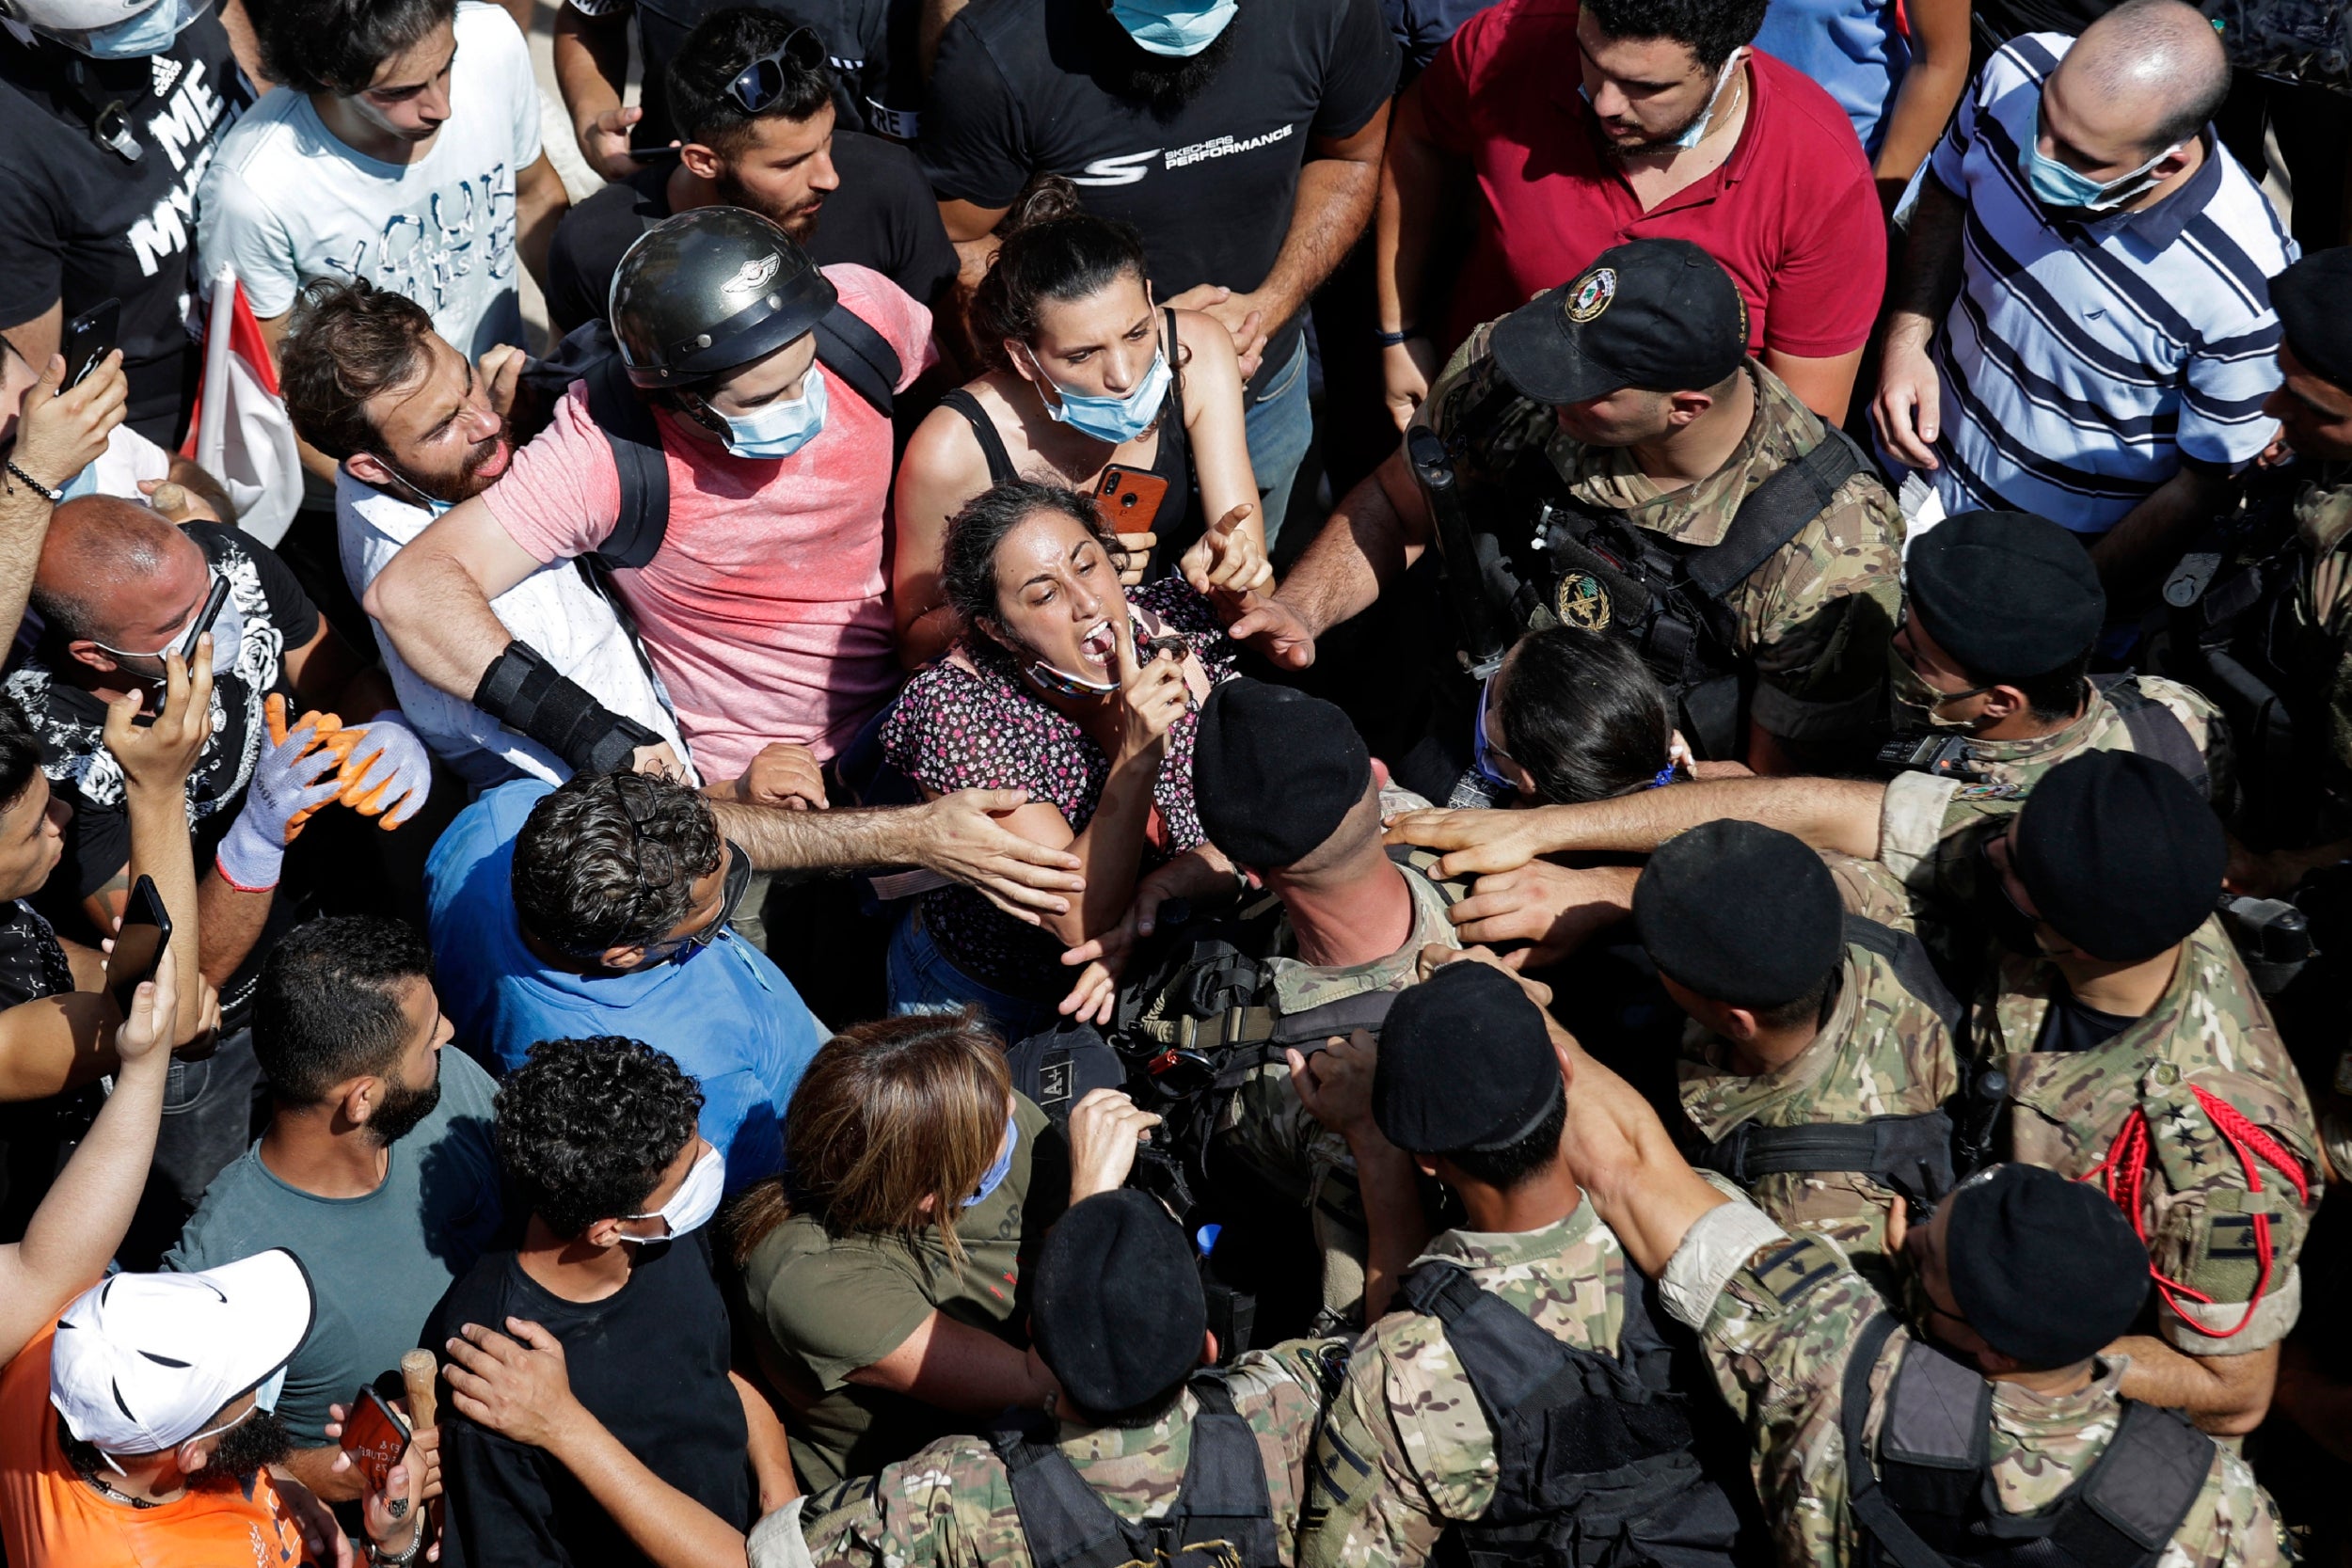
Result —
M1846 905L1820 856L1762 823L1700 823L1658 846L1632 884L1651 964L1726 1006L1783 1006L1846 952Z

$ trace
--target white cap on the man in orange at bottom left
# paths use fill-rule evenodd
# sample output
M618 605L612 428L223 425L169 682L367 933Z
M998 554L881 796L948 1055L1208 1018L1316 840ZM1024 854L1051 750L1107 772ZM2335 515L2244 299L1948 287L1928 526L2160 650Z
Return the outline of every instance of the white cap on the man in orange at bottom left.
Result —
M115 1274L56 1319L49 1403L103 1453L179 1448L292 1361L315 1312L285 1248L202 1274Z

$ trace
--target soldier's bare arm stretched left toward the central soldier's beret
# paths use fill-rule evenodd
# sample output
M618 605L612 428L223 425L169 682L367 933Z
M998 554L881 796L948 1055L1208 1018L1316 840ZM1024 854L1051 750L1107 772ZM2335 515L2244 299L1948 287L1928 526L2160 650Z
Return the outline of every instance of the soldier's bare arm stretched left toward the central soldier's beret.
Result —
M1700 778L1578 806L1409 811L1388 825L1388 842L1439 849L1439 877L1472 877L1566 851L1649 853L1677 832L1733 816L1870 860L1879 853L1884 799L1886 785L1863 778Z

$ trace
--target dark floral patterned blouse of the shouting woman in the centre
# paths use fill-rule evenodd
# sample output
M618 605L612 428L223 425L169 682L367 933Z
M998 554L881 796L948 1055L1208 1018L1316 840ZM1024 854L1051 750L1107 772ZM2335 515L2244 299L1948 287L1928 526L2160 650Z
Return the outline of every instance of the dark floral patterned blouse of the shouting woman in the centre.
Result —
M1181 576L1145 583L1127 595L1129 607L1157 614L1171 632L1192 644L1209 682L1235 672L1235 649L1225 642L1209 602ZM927 790L1028 790L1033 802L1058 806L1073 832L1084 832L1110 778L1110 757L1087 731L1040 698L1018 672L1014 656L985 637L967 637L967 670L941 658L908 682L882 724L882 752L898 771ZM1192 733L1200 708L1169 729L1152 802L1164 823L1164 844L1145 844L1143 870L1152 870L1207 842L1192 809ZM1021 997L1058 999L1075 978L1061 964L1061 943L1037 926L1004 914L967 886L922 896L922 922L931 940L981 985Z

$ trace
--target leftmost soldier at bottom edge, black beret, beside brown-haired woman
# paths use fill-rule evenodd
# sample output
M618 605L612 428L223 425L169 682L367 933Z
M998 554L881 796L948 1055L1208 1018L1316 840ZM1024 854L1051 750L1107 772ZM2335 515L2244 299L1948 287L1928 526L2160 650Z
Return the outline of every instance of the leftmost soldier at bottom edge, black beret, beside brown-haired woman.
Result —
M1207 1324L1183 1232L1138 1192L1087 1199L1047 1241L1035 1288L1037 1354L1065 1401L1051 1434L1030 1441L1058 1453L1122 1523L1181 1521L1202 1432L1200 1385L1185 1378L1202 1361ZM1256 1441L1272 1516L1272 1556L1242 1568L1296 1563L1305 1465L1345 1354L1341 1340L1289 1340L1223 1373L1232 1415ZM1040 1554L1037 1528L1000 1443L950 1436L767 1516L750 1535L750 1563L1025 1568ZM1169 1559L1204 1544L1185 1540L1181 1523L1176 1535L1164 1542ZM1152 1561L1150 1549L1138 1556Z

